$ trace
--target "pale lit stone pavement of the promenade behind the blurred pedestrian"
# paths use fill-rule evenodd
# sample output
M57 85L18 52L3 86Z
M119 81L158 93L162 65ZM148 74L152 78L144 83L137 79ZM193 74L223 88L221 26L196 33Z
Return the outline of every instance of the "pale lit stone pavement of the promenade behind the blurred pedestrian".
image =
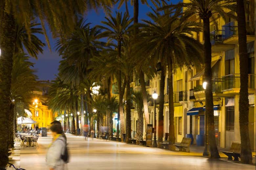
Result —
M210 160L202 152L173 152L120 142L67 135L71 159L68 170L255 170L254 165ZM45 154L51 137L39 137L40 147L23 147L20 150L20 168L47 170ZM221 155L223 156L223 155Z

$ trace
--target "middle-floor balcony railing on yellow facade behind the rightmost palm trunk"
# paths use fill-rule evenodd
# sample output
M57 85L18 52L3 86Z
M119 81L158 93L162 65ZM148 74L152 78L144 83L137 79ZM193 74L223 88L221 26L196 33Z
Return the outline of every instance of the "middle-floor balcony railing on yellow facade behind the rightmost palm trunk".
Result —
M240 88L240 74L229 74L223 76L222 81L222 91L232 89L232 88ZM254 74L248 74L248 88L254 89Z

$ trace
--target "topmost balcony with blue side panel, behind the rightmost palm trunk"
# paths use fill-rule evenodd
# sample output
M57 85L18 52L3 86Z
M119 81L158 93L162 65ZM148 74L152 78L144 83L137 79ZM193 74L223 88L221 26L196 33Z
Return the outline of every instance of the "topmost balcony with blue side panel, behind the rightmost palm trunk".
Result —
M250 21L246 21L247 43L255 39L254 28ZM237 21L231 21L222 26L223 42L226 44L238 44Z

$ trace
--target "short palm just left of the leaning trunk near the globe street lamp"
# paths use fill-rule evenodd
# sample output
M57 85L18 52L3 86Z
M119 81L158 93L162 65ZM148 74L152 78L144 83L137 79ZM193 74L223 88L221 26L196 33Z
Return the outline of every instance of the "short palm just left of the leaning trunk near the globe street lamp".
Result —
M136 129L136 140L142 140L143 139L143 99L142 99L142 93L141 91L132 92L132 100L136 103L136 110L138 112L138 123L137 123L137 129Z

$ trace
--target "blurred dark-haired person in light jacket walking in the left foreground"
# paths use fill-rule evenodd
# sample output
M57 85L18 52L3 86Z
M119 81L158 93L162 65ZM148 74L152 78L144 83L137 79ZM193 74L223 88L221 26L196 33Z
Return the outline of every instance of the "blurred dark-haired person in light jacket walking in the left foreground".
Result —
M52 123L50 130L52 131L53 141L49 145L46 155L47 166L50 170L64 170L65 162L68 162L68 153L66 139L62 135L61 124Z

